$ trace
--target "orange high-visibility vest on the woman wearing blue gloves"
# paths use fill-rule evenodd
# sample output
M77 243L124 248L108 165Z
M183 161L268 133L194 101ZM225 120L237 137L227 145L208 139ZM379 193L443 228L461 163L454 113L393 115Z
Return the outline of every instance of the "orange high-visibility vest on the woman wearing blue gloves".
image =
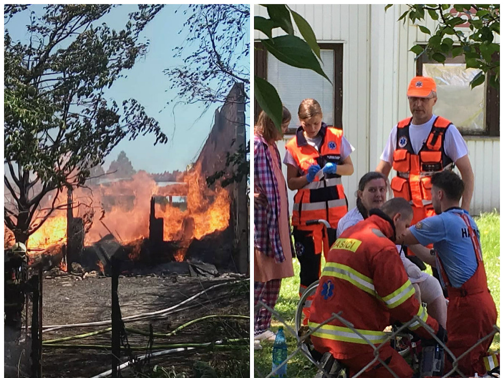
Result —
M304 175L313 164L318 164L321 168L326 163L341 164L343 131L323 123L321 133L320 151L307 143L301 127L285 146ZM292 225L304 226L307 220L325 219L332 228L337 228L338 221L347 211L348 201L341 184L341 176L326 174L321 178L318 175L294 195Z

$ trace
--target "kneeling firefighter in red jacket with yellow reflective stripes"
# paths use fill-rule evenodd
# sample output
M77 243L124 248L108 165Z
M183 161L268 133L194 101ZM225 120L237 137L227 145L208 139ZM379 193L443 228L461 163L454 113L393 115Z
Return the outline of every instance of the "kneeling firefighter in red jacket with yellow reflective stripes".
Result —
M394 376L380 361L371 363L375 356L369 343L375 347L383 343L379 357L399 378L413 376L413 369L391 347L383 332L394 321L411 321L408 324L411 331L432 339L432 334L414 319L418 316L440 340L445 340L444 328L427 315L416 299L397 253L396 235L406 231L412 216L408 201L392 198L381 209L369 210L369 217L345 230L328 253L312 300L308 326L314 348L320 353L330 352L350 369L350 376L363 368L360 375L363 378ZM338 319L323 324L340 312L362 336Z

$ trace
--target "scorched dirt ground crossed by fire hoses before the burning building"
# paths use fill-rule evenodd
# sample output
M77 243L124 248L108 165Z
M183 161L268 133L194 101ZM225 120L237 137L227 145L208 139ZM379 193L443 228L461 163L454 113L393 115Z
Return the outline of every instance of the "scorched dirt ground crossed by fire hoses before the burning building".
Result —
M211 286L228 283L216 288ZM176 312L125 322L125 327L154 333L168 333L180 325L208 315L249 316L249 280L237 274L224 274L216 278L191 277L173 274L119 277L118 296L122 318L161 311L180 304L183 300L205 293L178 307ZM174 311L173 310L173 311ZM72 327L47 332L49 326L81 324L111 319L111 278L67 275L45 278L43 281L43 341L85 334L110 327L110 324L90 327ZM52 328L52 327L51 327ZM249 320L213 317L192 324L171 337L154 336L153 345L207 343L226 339L248 339ZM110 346L111 333L92 337L61 341L58 347L42 347L42 375L45 378L93 377L111 368L110 350L90 345ZM149 337L127 331L127 341L136 356L145 355ZM64 344L64 345L61 345ZM76 344L79 344L76 346ZM219 376L249 376L248 340L239 348L197 347L167 356L153 357L144 371L154 365L185 372L194 376L195 361L203 361L214 367ZM155 351L155 350L154 350ZM121 353L121 362L128 358ZM135 374L132 368L121 370L121 376L146 376Z

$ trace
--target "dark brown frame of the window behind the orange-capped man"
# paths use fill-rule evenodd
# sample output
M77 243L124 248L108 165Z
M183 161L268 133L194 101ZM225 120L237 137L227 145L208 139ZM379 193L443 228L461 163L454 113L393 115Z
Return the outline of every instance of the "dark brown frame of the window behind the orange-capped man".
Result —
M423 45L422 47L425 47ZM493 55L494 59L499 59L499 53ZM465 63L464 55L452 57L452 54L447 56L445 63ZM423 63L439 63L436 60L428 59L426 54L422 54L416 60L416 75L422 76ZM500 91L488 84L488 79L485 81L485 130L469 131L466 129L460 130L464 136L483 136L483 137L499 137L500 136Z

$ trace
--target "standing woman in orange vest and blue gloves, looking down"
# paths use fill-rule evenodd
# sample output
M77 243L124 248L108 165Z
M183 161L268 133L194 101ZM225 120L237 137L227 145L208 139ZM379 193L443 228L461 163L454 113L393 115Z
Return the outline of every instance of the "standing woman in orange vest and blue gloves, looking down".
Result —
M343 131L322 122L322 109L317 100L305 99L298 109L301 126L287 143L284 164L287 165L287 186L297 190L292 209L294 246L300 264L299 295L320 276L321 252L329 250L327 230L322 224L306 225L306 221L325 219L331 228L348 211L348 201L341 176L353 173L350 154L353 146ZM323 248L323 244L325 245ZM304 314L308 316L308 297ZM306 324L307 319L304 320Z

